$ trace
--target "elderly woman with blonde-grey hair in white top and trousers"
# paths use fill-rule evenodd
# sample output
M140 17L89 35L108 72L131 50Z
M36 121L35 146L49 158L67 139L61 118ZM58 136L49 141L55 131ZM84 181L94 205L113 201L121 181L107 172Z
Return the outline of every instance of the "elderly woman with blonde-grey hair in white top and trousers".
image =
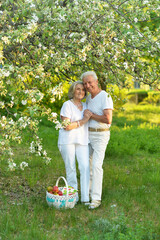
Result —
M83 82L74 82L68 92L69 100L60 111L62 121L70 121L69 125L59 130L58 147L66 168L68 185L78 190L76 159L80 171L81 202L89 202L89 148L88 148L88 120L91 113L85 113L86 104L82 99L86 97ZM77 201L78 201L77 194Z

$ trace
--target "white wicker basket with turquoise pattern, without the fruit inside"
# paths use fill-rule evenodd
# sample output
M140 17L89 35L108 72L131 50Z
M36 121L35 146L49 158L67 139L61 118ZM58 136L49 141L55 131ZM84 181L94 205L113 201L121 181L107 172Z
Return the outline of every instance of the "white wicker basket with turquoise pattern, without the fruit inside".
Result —
M67 194L63 196L59 195L54 195L49 192L46 192L46 201L49 206L53 206L57 209L62 209L62 208L73 208L76 204L76 195L77 193L73 193L69 195L69 190L68 190L68 183L64 177L59 177L56 182L56 186L58 186L59 180L63 179L65 182L65 187L67 190ZM58 187L60 191L63 191L63 187Z

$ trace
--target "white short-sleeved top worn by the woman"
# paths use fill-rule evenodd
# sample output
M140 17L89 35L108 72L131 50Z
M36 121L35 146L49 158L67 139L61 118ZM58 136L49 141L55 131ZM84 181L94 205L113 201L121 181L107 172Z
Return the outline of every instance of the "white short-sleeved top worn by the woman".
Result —
M86 109L86 103L82 102L82 105L83 110L80 111L71 100L68 100L63 104L60 115L69 118L71 122L81 120L83 112ZM69 131L64 129L59 130L58 144L88 145L88 141L88 123Z

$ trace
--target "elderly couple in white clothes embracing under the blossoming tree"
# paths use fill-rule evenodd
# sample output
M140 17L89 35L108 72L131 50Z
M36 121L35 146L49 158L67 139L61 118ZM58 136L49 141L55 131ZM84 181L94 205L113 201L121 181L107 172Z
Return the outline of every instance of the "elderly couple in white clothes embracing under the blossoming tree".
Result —
M71 85L69 100L61 108L62 121L69 119L70 124L60 129L58 147L65 163L68 185L78 189L77 159L81 202L89 209L95 209L101 204L102 165L110 139L113 101L99 88L95 72L85 72L81 79ZM87 92L90 93L88 96ZM82 102L86 96L86 102Z

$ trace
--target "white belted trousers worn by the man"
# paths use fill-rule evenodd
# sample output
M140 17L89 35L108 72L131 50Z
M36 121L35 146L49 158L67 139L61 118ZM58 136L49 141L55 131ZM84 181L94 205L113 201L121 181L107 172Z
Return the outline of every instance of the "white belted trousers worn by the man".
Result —
M110 139L110 131L89 132L90 194L91 200L101 200L103 182L103 160Z

